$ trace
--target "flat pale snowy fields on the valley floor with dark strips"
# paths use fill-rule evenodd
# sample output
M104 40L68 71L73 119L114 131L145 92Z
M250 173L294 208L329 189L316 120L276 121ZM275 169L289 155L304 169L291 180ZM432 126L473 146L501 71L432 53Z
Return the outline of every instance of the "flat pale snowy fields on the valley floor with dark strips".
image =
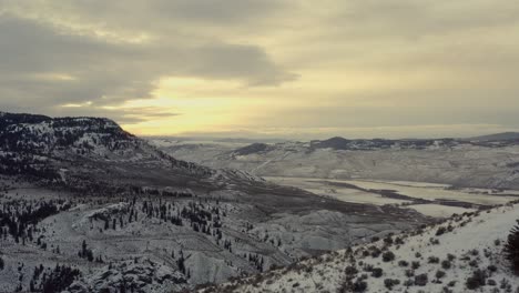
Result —
M413 209L424 215L447 218L455 213L475 211L477 206L499 205L517 200L513 190L452 189L448 184L383 180L332 180L309 178L265 176L276 184L297 186L322 196L329 196L345 202L375 205L396 204L403 209ZM383 195L391 190L409 199L396 199ZM378 192L378 193L377 193ZM427 200L427 203L415 203L413 200ZM454 206L450 203L461 203Z

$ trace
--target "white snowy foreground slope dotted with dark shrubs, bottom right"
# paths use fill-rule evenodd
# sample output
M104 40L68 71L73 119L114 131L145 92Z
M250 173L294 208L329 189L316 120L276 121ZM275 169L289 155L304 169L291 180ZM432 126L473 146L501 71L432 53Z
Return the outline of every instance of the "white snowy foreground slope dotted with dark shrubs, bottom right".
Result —
M519 204L454 215L202 292L519 292L503 244Z

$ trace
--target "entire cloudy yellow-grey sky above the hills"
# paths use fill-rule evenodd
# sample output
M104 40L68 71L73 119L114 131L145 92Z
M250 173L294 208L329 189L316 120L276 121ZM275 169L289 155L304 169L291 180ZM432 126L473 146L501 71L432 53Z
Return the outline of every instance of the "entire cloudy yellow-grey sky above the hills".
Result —
M0 0L0 111L140 135L519 130L519 1Z

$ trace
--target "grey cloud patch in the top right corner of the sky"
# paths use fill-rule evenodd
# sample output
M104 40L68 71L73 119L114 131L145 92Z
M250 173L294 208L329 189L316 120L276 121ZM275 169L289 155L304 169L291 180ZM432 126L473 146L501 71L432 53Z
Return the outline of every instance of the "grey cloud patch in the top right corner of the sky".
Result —
M517 23L518 12L510 1L352 0L340 1L329 20L355 23L343 31L358 37L416 39Z

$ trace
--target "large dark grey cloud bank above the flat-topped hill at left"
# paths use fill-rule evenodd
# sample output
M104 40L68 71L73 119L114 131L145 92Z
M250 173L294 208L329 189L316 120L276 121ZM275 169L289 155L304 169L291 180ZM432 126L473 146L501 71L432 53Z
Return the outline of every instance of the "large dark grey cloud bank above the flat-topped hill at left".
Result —
M253 44L192 44L165 36L151 43L119 42L8 12L0 14L0 107L13 108L9 100L16 100L14 109L26 104L50 112L63 104L150 98L164 75L237 80L247 87L295 77Z

